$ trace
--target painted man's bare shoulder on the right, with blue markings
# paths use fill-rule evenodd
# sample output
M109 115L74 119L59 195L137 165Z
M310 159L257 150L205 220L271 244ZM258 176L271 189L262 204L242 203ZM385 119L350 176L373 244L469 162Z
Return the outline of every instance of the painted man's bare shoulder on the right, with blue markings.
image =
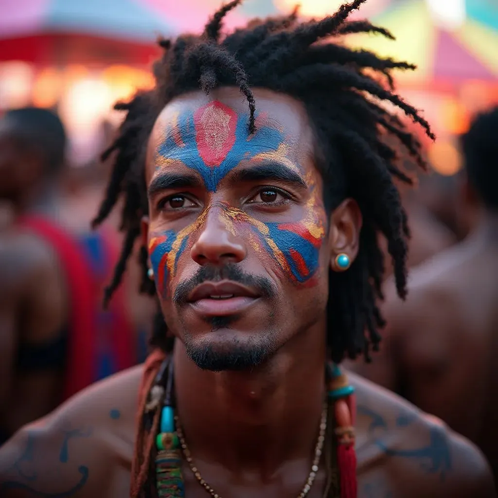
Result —
M351 374L360 497L496 497L481 452L441 420Z

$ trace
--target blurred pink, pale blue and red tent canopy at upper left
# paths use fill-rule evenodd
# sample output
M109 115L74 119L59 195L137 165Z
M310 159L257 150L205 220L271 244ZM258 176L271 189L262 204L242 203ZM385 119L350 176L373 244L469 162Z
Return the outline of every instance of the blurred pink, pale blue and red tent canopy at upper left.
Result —
M140 0L0 3L0 61L146 64L158 53L155 38L172 33L165 16Z

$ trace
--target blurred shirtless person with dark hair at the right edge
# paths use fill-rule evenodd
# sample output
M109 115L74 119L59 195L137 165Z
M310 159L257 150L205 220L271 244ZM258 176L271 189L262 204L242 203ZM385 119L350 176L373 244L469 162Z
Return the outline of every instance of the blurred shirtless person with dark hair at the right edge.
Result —
M498 327L498 108L462 138L469 237L411 273L409 298L388 287L380 355L354 369L441 417L481 447L498 476L494 362Z

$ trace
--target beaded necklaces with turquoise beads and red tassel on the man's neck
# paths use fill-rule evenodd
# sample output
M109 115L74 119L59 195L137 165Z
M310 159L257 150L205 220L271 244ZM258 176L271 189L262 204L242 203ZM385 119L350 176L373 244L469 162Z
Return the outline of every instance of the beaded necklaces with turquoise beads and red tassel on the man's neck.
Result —
M327 398L320 433L315 448L315 458L308 479L298 495L307 496L318 472L323 443L327 439L327 423L335 437L331 445L337 448L337 454L327 459L327 485L324 498L356 498L356 454L354 449L354 387L348 383L346 375L333 364L326 365ZM163 387L165 386L165 388ZM162 403L161 403L162 401ZM162 404L162 406L160 406ZM156 489L158 498L185 498L185 483L182 475L182 460L185 459L191 471L213 498L221 498L202 478L195 467L186 444L178 417L174 410L173 361L167 358L156 375L154 386L149 393L146 411L161 409L159 432L155 436ZM327 416L329 415L329 416ZM330 423L332 422L332 423ZM328 460L328 461L327 461ZM337 468L336 468L337 467Z

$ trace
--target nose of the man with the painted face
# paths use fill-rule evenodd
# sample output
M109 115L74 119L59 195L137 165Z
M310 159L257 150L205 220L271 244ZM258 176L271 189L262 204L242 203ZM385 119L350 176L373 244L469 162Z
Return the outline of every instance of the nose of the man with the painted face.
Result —
M213 206L209 210L201 233L190 251L197 264L239 263L246 257L246 245L242 237L237 235L235 223L223 217L223 208Z

